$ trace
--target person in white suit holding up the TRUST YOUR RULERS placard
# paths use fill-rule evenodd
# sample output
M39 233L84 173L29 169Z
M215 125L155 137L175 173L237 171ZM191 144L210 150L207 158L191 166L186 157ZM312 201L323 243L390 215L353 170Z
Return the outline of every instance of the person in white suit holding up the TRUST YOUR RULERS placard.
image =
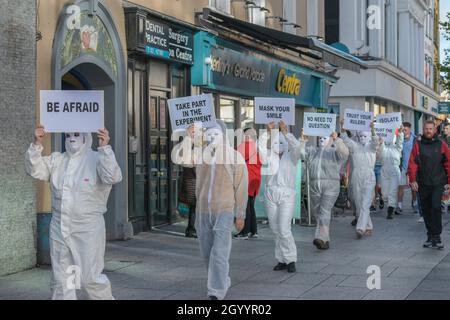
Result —
M375 134L374 123L370 124L371 132L358 132L359 142L350 139L341 120L341 137L350 152L353 165L351 173L351 193L356 206L356 236L361 239L364 235L372 235L373 224L370 218L370 205L372 204L375 189L375 160L379 147L379 139Z

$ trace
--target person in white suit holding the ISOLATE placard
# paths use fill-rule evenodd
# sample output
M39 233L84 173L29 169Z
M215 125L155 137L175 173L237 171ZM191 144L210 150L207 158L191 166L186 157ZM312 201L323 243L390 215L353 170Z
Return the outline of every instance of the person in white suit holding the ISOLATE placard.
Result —
M403 150L403 126L400 127L393 141L380 139L380 154L383 166L381 167L381 190L388 201L387 219L394 218L397 207L398 185L400 184L400 164Z

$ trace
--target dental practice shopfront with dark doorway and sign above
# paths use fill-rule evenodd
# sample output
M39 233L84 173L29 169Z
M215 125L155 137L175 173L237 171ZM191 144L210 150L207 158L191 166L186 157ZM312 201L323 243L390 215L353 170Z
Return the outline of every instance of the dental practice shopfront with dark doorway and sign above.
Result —
M195 27L126 7L128 212L135 233L174 222L180 167L170 161L167 100L190 95Z

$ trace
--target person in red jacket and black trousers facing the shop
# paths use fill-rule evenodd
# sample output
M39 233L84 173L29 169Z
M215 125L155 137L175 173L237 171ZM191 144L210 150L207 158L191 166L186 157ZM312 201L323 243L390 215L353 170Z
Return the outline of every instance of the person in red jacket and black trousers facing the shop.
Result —
M257 238L255 198L259 194L259 188L261 186L262 162L258 154L256 131L253 128L246 128L244 130L244 142L238 146L237 151L242 154L247 164L248 202L244 228L236 235L236 238L248 239L249 236L251 238Z

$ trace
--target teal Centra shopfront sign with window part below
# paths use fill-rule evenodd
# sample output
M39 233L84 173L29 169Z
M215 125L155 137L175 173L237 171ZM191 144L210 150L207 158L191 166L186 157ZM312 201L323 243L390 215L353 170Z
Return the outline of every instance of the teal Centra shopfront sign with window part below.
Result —
M299 133L304 109L326 106L337 80L204 31L194 39L192 85L214 94L216 115L229 129L254 126L254 97L280 97L295 99Z

